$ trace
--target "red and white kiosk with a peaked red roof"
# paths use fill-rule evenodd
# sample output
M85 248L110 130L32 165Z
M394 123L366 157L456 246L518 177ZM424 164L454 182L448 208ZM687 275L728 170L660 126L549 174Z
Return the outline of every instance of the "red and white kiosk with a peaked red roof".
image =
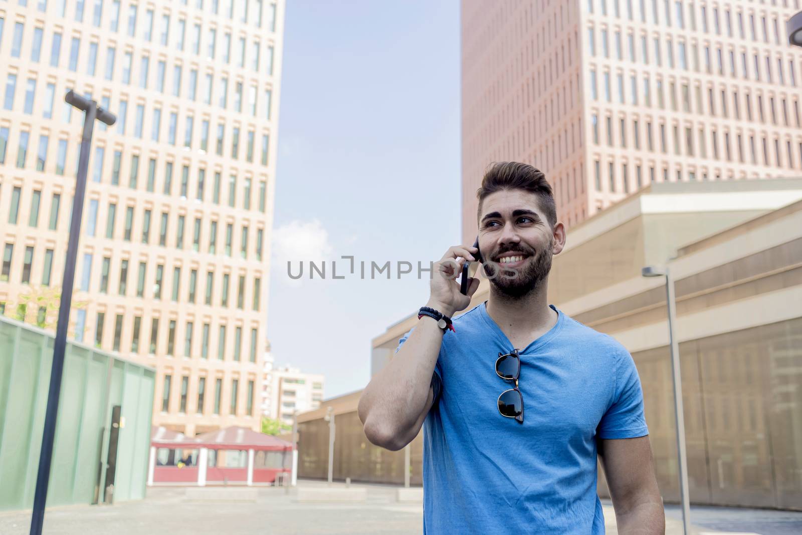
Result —
M270 485L290 476L293 446L233 426L188 437L163 427L151 432L148 485Z

